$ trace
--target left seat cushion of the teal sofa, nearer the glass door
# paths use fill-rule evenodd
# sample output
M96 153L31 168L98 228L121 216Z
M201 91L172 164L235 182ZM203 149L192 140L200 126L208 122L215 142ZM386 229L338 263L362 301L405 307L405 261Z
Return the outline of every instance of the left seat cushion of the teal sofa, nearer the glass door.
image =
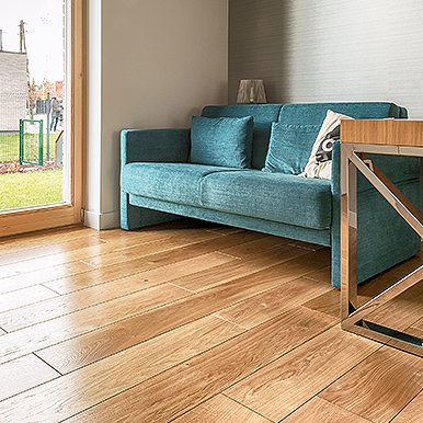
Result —
M203 176L231 169L193 163L128 163L122 169L121 186L129 194L201 206Z

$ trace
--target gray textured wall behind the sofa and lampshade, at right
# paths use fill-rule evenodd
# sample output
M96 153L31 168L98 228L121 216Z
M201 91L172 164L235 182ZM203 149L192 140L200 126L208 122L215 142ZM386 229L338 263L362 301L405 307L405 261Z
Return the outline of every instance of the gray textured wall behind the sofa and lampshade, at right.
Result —
M229 101L263 78L270 102L393 101L423 118L420 0L230 0Z

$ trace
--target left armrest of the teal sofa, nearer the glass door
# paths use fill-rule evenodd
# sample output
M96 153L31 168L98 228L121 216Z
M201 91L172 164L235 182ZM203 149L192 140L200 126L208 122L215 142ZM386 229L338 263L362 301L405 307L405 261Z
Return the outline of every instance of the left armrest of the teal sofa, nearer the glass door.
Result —
M125 129L121 133L121 163L186 162L190 129Z

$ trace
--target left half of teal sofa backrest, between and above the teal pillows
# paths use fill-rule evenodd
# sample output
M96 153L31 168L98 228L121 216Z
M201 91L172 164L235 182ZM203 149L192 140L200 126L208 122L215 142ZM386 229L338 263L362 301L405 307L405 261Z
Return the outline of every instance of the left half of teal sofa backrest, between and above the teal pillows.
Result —
M282 104L239 104L205 106L202 116L205 117L244 117L253 116L254 136L252 167L262 169L267 155L272 123L277 121Z

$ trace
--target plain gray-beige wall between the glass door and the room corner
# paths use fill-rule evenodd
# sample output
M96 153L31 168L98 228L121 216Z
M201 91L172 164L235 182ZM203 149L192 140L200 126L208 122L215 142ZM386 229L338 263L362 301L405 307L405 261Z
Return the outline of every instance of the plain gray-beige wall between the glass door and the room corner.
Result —
M178 7L176 7L178 3ZM228 101L228 0L90 0L85 224L118 225L119 132Z

